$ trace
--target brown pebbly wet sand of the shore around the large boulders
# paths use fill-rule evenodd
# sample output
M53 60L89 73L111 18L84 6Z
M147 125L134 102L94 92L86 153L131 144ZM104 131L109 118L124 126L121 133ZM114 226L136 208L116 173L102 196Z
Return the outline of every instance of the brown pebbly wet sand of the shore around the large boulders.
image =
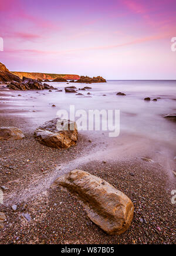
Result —
M172 146L166 143L164 148L155 140L130 133L110 140L104 132L80 132L77 146L69 150L42 146L33 138L33 131L55 117L56 110L46 106L46 114L35 96L25 93L0 91L1 126L16 126L25 134L22 141L0 142L0 185L8 188L0 205L6 215L0 243L175 244L176 206L171 204L171 191L176 185L171 170L176 166ZM73 169L89 171L131 198L135 214L126 233L104 234L69 193L61 188L50 190L57 177ZM15 212L13 204L18 206ZM31 222L24 213L31 215Z

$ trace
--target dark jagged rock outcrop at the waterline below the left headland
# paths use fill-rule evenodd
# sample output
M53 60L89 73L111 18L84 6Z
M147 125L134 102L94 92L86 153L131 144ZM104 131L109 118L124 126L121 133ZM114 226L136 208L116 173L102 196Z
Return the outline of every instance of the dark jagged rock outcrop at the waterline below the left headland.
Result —
M50 90L54 89L53 86L49 86L46 83L39 82L38 80L33 80L30 78L23 77L22 82L11 82L8 85L11 90Z

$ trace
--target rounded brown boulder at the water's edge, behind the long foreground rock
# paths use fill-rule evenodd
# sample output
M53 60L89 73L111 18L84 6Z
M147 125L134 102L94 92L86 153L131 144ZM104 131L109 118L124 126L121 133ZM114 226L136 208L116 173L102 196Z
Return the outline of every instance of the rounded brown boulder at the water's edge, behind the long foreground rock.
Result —
M73 121L56 118L36 129L34 137L45 146L67 149L77 143L77 126Z

